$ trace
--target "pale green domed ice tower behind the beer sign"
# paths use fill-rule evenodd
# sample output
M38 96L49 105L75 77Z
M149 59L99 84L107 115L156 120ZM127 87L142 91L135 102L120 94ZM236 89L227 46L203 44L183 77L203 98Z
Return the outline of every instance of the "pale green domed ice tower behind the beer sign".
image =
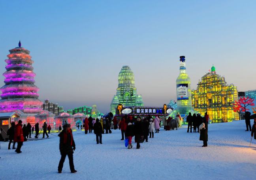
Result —
M141 95L137 95L135 88L134 73L129 66L123 66L118 75L117 95L112 99L110 110L115 114L115 108L118 104L124 107L143 106Z

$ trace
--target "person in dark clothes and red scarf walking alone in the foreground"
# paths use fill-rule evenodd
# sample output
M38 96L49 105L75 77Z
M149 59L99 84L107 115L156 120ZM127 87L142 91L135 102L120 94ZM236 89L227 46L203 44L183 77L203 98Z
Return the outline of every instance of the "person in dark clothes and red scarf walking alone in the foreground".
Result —
M63 163L66 156L68 155L68 160L70 164L71 173L77 172L73 163L73 151L75 151L75 141L73 139L72 130L70 129L70 124L63 126L63 130L58 134L60 137L60 162L58 165L58 173L62 172Z

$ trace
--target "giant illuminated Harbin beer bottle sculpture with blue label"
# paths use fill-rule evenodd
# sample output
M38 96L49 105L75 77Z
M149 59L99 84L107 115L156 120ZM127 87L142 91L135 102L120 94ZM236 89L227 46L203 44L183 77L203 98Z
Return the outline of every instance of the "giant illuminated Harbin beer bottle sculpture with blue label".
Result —
M171 113L175 116L177 112L188 115L188 112L194 113L191 102L190 78L186 73L185 56L180 56L180 73L176 79L177 90L177 109Z

